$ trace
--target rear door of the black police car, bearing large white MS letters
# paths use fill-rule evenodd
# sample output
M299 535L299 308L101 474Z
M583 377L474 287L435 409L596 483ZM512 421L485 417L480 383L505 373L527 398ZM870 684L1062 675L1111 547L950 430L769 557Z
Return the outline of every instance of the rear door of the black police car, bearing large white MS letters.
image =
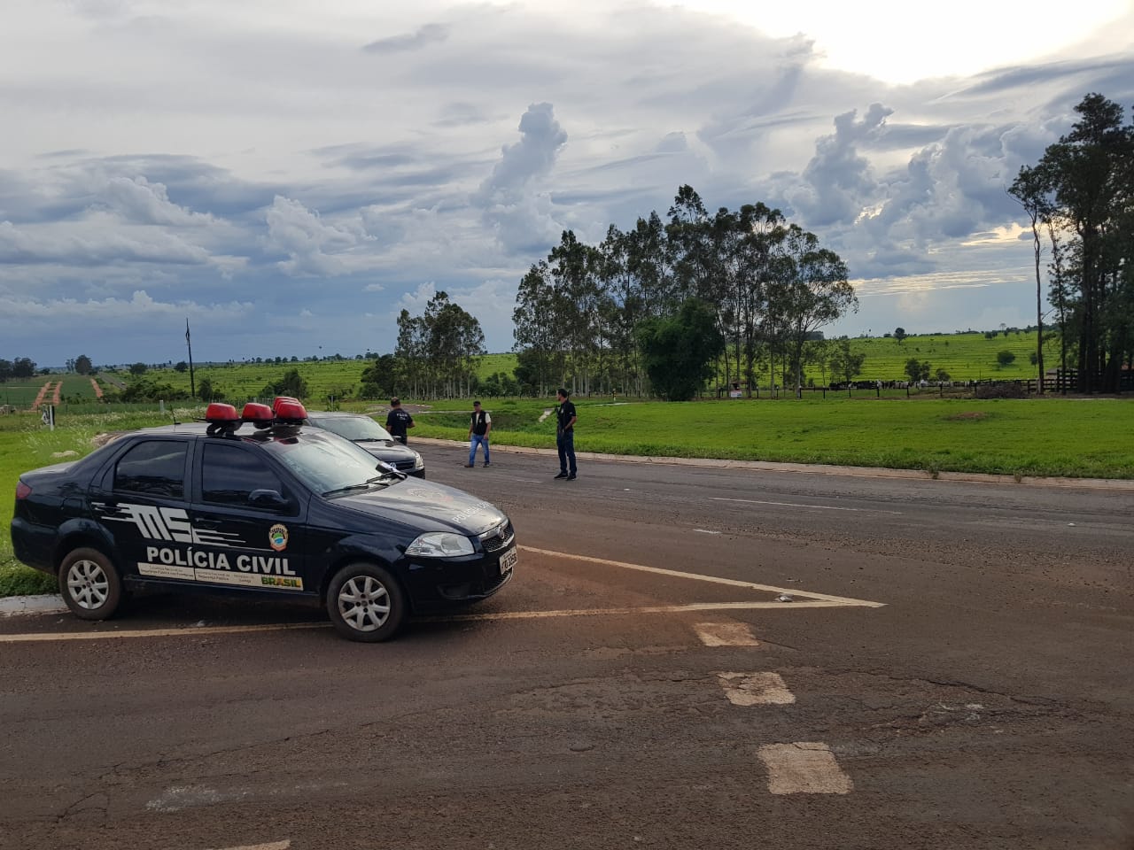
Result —
M189 579L185 551L193 543L186 512L185 440L134 441L91 493L91 507L115 541L127 579Z

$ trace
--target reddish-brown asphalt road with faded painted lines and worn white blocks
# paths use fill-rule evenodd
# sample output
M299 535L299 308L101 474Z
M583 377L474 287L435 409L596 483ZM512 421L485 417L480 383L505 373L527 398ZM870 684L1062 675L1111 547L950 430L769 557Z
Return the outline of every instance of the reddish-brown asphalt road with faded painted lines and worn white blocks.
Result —
M467 617L0 620L0 847L1134 848L1134 492L417 448Z

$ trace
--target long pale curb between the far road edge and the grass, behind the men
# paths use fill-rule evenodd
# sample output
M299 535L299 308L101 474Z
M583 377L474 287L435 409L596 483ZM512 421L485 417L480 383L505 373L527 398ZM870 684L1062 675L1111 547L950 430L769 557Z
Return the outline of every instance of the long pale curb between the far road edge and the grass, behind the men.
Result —
M414 443L468 448L464 440L440 440L417 436ZM557 458L556 449L534 449L526 445L492 444L493 452L503 454L545 454ZM985 475L982 473L928 473L924 469L888 469L870 466L836 466L831 464L777 464L770 460L728 460L714 458L667 458L638 454L604 454L602 452L576 451L581 460L610 460L620 464L668 464L674 466L697 466L713 469L747 469L768 473L801 473L804 475L843 475L860 478L911 478L915 481L971 482L974 484L1019 484L1033 487L1073 487L1080 490L1116 490L1134 492L1134 481L1123 478L1043 478L1036 476Z

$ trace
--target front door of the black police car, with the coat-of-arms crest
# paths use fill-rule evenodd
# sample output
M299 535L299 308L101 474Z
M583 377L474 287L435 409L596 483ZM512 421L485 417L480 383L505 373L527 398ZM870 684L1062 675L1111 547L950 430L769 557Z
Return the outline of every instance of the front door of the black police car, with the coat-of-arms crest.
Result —
M306 577L305 508L259 451L240 440L203 440L191 508L208 556L197 581L279 594L318 593Z

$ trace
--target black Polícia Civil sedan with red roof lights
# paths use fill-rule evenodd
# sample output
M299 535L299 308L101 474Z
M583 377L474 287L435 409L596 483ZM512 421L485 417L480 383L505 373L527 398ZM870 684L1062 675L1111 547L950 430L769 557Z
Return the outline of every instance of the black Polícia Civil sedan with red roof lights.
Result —
M492 504L407 478L295 399L210 405L204 422L144 428L87 457L24 473L16 558L58 577L84 620L145 586L304 598L352 640L409 614L486 598L516 566Z

